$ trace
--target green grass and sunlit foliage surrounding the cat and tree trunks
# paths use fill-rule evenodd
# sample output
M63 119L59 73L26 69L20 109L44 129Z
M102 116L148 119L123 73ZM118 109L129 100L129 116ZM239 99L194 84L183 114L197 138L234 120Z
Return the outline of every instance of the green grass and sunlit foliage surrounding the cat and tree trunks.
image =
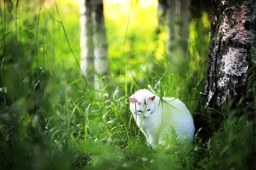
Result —
M6 3L4 17L3 3L0 6L0 23L6 18L1 35L13 30L5 42L0 40L0 58L5 62L1 84L6 93L4 106L1 88L0 169L256 168L256 74L252 71L247 81L252 100L241 100L237 108L230 100L224 111L205 107L206 13L192 19L188 55L181 56L186 57L185 66L177 62L170 68L172 59L165 54L163 43L166 28L156 35L156 20L149 22L144 16L156 17L155 6L140 10L135 2L131 16L130 6L106 6L110 75L99 79L102 88L96 91L81 76L76 62L79 6L46 1L39 17L40 3L26 3L19 2L18 20L15 9L11 18ZM117 8L121 8L118 17L127 20L111 18ZM175 54L180 54L179 49ZM175 136L166 139L169 145L157 152L146 144L129 111L128 97L140 88L154 88L157 95L177 97L186 104L199 129L194 144L180 146Z

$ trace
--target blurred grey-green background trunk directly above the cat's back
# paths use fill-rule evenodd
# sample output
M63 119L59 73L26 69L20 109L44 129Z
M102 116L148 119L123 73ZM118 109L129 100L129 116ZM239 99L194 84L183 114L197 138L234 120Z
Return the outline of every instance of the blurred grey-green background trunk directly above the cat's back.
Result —
M189 24L191 18L190 0L167 0L168 40L167 54L170 63L175 63L177 70L183 74L184 63L189 44ZM169 64L171 70L173 65Z

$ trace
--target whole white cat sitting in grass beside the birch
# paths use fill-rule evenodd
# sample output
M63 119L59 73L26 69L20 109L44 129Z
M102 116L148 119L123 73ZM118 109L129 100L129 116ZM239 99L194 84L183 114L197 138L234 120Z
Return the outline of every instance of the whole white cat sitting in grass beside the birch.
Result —
M139 127L145 110L141 131L153 147L166 143L163 137L172 135L170 126L175 129L180 142L183 142L185 137L186 145L192 143L195 133L193 118L186 105L179 99L166 97L163 98L166 102L160 102L158 96L146 89L137 91L129 99L131 112Z

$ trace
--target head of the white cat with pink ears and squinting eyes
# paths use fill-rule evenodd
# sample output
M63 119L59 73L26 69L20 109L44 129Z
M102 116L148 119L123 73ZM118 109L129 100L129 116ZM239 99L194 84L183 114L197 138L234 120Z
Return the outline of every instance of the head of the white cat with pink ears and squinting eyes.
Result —
M154 113L154 108L156 106L154 102L155 97L156 96L154 94L152 94L150 91L146 89L137 91L135 94L129 97L131 102L130 103L131 112L134 114L136 114L137 112L137 115L142 117L143 112L145 111L144 118L147 118L152 113Z

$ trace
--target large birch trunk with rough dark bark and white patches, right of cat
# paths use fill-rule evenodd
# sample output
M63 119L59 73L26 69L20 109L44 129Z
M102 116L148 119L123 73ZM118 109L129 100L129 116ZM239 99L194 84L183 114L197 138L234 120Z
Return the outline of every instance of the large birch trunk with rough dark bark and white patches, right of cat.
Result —
M206 102L219 108L247 91L256 64L256 0L212 0L210 27Z

